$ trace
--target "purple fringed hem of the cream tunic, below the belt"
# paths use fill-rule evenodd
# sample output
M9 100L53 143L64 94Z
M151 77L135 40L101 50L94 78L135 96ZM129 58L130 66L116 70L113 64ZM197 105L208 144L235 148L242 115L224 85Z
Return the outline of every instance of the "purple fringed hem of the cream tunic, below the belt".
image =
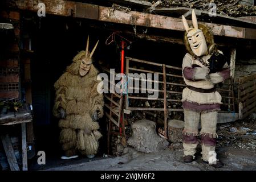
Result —
M194 111L217 111L220 109L220 104L196 104L188 101L182 102L183 109Z

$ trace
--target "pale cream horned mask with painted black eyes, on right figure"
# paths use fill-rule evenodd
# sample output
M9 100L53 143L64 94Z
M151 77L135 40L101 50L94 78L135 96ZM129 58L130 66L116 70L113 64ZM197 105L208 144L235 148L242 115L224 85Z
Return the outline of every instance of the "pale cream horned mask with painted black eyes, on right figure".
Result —
M192 10L192 23L193 27L189 28L188 22L186 22L186 18L182 15L182 22L185 27L188 38L188 42L190 44L190 48L193 53L197 56L203 56L208 52L208 47L206 44L205 36L202 30L198 29L197 17Z

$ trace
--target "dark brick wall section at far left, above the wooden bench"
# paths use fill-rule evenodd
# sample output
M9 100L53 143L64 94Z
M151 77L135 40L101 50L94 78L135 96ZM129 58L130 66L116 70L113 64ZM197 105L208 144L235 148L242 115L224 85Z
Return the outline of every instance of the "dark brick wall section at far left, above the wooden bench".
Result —
M20 96L19 12L0 10L1 23L11 23L13 30L1 30L0 37L0 99L18 98Z

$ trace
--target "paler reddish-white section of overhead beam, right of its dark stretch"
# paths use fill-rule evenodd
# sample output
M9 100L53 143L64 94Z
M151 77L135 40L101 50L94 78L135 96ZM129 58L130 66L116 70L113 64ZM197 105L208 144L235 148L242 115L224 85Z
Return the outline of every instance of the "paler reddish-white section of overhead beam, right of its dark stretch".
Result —
M184 26L180 18L172 18L168 16L145 14L137 11L129 11L125 13L124 11L115 10L111 12L105 7L99 6L99 19L105 22L123 23L131 24L133 26L146 26L154 28L162 28L166 30L177 30L184 31ZM189 24L192 24L188 20ZM202 22L199 22L202 23ZM250 38L256 39L256 30L251 28L241 28L234 26L226 26L223 24L214 23L202 23L210 27L213 35L229 36L234 38ZM250 30L250 35L246 32ZM254 33L253 33L254 32Z

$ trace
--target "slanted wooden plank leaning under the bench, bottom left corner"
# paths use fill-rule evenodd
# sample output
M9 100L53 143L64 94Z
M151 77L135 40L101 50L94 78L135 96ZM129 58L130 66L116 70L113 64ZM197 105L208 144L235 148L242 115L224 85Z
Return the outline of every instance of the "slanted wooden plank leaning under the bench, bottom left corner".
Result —
M8 134L1 135L1 140L3 143L3 148L5 149L5 154L7 156L8 163L10 165L11 171L19 171L19 166L17 159L14 154L13 144Z

